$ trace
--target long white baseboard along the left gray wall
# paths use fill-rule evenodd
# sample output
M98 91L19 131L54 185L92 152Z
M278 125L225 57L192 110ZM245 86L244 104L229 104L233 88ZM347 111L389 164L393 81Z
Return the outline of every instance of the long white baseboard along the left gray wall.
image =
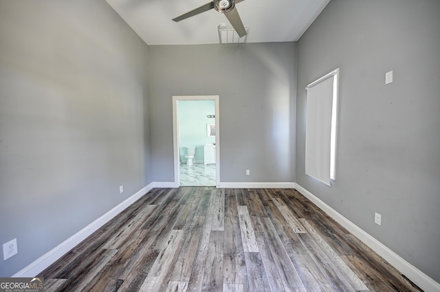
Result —
M34 260L28 267L25 267L21 271L15 273L13 278L21 278L21 277L35 277L41 271L52 265L56 260L64 256L69 250L76 247L81 241L85 240L89 235L93 234L98 230L102 225L109 222L113 217L118 215L120 212L129 207L132 203L140 199L144 194L149 192L153 188L153 183L148 184L148 186L142 188L128 199L120 203L119 205L113 207L109 212L100 216L94 222L90 223L79 232L65 240L60 245L56 246L54 249L48 251L46 254L41 256L40 258Z

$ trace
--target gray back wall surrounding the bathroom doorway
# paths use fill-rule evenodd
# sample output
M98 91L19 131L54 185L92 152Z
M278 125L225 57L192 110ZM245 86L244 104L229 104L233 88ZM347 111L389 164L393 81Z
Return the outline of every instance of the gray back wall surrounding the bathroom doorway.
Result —
M174 181L172 96L185 95L220 96L221 182L294 181L295 43L148 49L153 181Z

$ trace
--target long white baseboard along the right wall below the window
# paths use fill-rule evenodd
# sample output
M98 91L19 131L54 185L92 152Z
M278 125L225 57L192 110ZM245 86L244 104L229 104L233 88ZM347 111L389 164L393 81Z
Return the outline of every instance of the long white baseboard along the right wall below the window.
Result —
M317 205L322 211L327 213L331 218L337 221L340 225L345 227L354 236L362 240L363 243L368 245L373 251L377 252L382 258L389 262L393 267L404 274L408 279L414 282L418 287L423 289L425 292L440 292L440 284L430 278L428 275L411 265L409 262L401 258L394 251L380 243L379 240L375 239L370 234L364 232L360 227L353 224L349 219L342 216L340 213L336 212L332 207L318 199L314 194L294 183L294 188L298 190L303 196L309 199L312 203Z

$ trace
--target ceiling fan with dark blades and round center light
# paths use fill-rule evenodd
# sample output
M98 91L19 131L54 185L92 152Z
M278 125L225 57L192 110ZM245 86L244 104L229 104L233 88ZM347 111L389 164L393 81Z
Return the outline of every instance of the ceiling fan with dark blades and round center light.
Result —
M195 10L191 10L190 12L186 12L181 16L177 16L175 19L173 19L173 21L177 22L188 19L191 16L195 16L201 12L206 12L214 8L218 12L224 13L226 18L228 18L228 21L232 24L232 27L234 27L236 33L239 34L240 37L243 37L246 35L246 30L243 22L241 22L239 12L235 8L235 4L241 1L244 0L212 0L210 3L206 3L205 5L201 5L199 8L195 8Z

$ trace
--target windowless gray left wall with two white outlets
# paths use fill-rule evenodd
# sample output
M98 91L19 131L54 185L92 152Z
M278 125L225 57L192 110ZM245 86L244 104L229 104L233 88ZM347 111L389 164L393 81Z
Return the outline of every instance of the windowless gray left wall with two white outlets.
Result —
M0 0L0 276L151 181L146 58L105 1Z

